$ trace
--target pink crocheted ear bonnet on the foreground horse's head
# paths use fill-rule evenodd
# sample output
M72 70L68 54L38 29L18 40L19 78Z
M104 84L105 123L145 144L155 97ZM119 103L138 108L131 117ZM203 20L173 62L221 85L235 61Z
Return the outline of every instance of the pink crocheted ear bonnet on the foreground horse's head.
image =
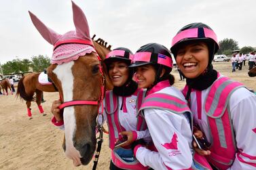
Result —
M31 20L41 36L48 43L54 45L51 58L52 64L62 64L77 60L79 56L85 56L92 53L92 51L96 53L90 39L90 30L84 12L73 1L72 9L75 30L71 30L64 35L60 35L51 28L48 28L37 16L29 12Z

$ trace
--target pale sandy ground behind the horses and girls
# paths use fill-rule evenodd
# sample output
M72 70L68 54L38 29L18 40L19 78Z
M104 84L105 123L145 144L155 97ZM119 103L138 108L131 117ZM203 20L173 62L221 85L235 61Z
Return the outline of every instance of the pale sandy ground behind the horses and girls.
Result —
M236 72L231 72L230 62L214 63L214 67L223 75L256 90L256 78L247 75L248 65ZM183 87L185 81L179 81L176 68L172 74L176 78L175 86ZM47 102L42 106L47 115L42 116L33 103L33 119L29 120L25 102L16 100L15 95L0 95L0 169L92 169L92 161L88 166L73 167L73 161L65 157L61 147L63 131L50 123L50 106L58 99L58 93L44 93L44 98ZM98 169L109 167L107 137L105 134Z

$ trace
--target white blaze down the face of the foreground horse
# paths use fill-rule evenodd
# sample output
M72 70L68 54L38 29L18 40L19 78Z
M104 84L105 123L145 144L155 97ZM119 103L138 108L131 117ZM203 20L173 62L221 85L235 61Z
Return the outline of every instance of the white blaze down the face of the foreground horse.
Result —
M64 102L73 100L74 77L71 70L73 64L74 64L73 61L60 64L56 66L56 68L53 70L53 72L56 74L58 79L61 81ZM73 159L74 165L76 166L81 165L81 161L80 161L81 155L73 145L73 135L76 128L74 107L69 106L65 108L63 112L63 117L64 117L64 123L65 123L65 143L66 143L65 154L68 158Z

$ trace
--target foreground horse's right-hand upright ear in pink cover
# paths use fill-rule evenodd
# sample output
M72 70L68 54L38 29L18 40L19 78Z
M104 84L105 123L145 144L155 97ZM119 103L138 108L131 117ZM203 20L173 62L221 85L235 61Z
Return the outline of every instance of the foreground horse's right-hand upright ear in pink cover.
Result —
M88 22L86 20L86 16L84 15L84 12L73 1L72 1L72 9L73 9L73 21L75 24L75 32L77 34L77 37L81 39L90 40L90 29L88 26Z

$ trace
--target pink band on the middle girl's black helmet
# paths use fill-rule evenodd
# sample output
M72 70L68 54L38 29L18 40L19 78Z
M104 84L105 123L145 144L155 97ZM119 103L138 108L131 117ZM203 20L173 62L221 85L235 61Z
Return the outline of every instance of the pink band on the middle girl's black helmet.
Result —
M130 67L142 66L145 64L162 64L164 66L172 68L173 62L170 56L143 51L136 52L136 54L134 54Z

